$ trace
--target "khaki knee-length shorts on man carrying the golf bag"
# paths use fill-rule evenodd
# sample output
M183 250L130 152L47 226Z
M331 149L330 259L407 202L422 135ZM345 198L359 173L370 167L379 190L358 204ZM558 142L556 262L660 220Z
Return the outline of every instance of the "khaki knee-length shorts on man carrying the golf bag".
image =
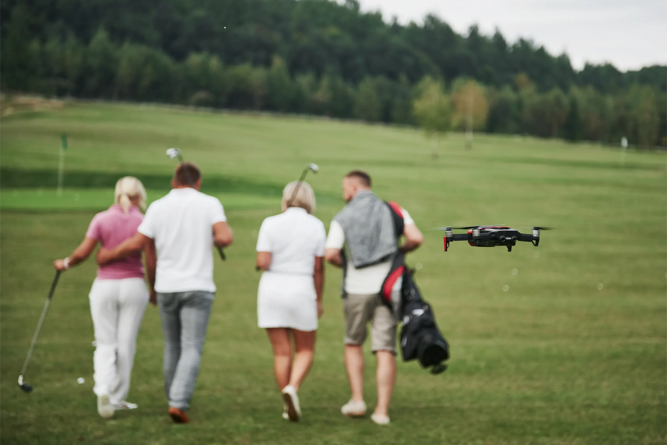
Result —
M343 299L345 344L362 345L366 341L366 324L371 322L371 350L396 354L396 318L380 302L378 294L348 294Z

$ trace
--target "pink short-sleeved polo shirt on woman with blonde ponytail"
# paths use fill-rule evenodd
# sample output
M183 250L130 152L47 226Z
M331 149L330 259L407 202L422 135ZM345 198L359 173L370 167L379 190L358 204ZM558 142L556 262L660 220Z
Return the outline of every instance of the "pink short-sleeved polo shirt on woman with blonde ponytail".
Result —
M103 248L113 249L127 238L135 236L141 221L143 221L143 214L134 205L125 214L123 207L114 204L108 210L101 211L93 217L85 238L99 241ZM102 266L97 270L98 280L122 280L123 278L143 278L141 252Z

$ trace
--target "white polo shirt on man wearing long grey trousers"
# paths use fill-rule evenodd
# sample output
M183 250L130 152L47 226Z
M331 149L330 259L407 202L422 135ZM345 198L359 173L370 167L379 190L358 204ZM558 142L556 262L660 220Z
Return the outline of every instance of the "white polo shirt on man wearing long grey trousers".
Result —
M203 290L213 283L213 224L227 221L220 201L187 187L151 203L139 233L155 240L155 291Z

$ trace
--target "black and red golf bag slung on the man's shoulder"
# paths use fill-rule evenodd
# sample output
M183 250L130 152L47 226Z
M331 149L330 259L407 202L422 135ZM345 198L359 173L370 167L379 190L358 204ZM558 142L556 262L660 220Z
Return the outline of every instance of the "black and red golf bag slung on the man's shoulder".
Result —
M404 229L402 209L396 203L389 205L394 215L396 233L400 236ZM403 278L400 301L394 302L392 291L400 278ZM450 346L438 329L430 304L422 298L414 280L414 269L406 266L404 254L399 253L394 258L392 269L382 284L380 298L402 319L401 352L404 362L418 359L424 368L431 368L431 374L440 374L446 370L447 365L443 362L450 358Z

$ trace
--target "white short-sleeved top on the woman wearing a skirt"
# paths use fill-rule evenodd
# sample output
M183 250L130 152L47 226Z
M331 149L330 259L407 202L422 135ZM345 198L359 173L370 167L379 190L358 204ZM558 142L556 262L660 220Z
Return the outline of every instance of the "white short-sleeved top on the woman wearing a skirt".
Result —
M315 257L324 256L325 239L322 221L301 207L289 207L264 219L257 252L271 252L269 272L312 276Z

